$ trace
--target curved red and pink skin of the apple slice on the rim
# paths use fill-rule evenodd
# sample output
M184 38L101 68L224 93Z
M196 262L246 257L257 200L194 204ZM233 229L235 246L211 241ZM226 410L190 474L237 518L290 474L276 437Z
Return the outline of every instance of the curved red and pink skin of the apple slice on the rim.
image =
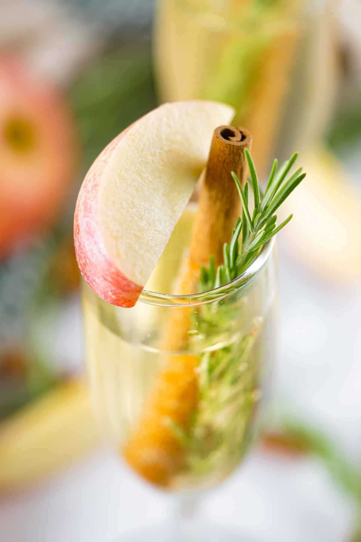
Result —
M75 254L81 273L101 299L120 307L134 307L142 286L127 279L109 260L99 228L97 205L102 173L111 153L129 128L117 135L90 167L83 180L74 215Z

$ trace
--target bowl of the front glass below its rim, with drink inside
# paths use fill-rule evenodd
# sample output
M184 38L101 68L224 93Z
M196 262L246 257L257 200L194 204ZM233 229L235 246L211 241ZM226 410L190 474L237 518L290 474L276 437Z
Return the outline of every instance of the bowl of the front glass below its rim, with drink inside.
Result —
M133 308L110 305L83 283L100 427L137 474L183 497L224 480L250 448L267 403L277 337L273 240L228 285L172 295L193 216L189 209L183 214ZM180 329L187 341L176 347Z

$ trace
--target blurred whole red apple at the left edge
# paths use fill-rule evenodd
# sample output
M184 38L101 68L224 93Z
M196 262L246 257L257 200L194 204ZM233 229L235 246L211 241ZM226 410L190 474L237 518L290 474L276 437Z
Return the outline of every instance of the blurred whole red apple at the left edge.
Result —
M15 57L0 56L0 257L56 219L76 158L61 93Z

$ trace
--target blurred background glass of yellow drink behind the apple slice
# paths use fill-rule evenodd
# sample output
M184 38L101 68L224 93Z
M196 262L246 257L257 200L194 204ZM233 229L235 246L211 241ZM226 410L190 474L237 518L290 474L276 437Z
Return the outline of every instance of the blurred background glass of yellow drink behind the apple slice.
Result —
M253 136L259 174L318 142L337 92L326 0L158 0L160 101L210 99Z

